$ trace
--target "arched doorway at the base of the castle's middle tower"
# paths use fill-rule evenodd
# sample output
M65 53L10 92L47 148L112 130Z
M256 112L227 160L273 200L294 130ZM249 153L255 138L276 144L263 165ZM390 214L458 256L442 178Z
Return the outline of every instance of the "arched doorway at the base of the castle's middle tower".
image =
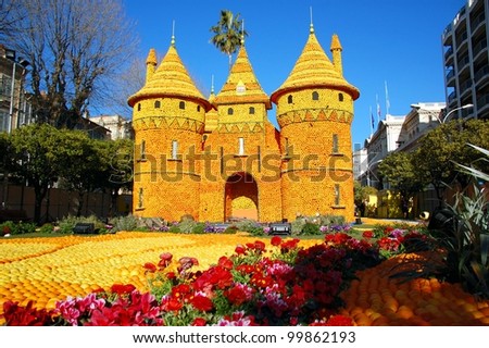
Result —
M249 173L230 175L224 189L224 220L247 217L259 220L258 185Z

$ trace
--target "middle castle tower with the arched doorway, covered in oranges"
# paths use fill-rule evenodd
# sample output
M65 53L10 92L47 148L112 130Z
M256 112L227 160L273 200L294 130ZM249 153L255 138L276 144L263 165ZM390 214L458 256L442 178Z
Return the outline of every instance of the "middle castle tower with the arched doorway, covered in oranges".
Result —
M226 83L212 102L217 110L217 126L205 140L203 156L213 153L218 160L204 161L214 175L202 178L201 216L209 221L230 216L279 219L279 173L271 173L262 163L267 153L274 152L279 165L275 127L267 120L272 105L256 79L243 40ZM272 179L264 182L264 176Z

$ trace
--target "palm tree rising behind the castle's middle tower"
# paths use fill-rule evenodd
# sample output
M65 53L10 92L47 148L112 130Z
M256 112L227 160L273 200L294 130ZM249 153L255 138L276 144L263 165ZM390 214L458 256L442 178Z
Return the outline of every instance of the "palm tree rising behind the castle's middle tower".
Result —
M211 42L229 57L230 70L233 53L236 53L241 46L241 37L248 36L242 21L239 20L239 13L233 15L229 10L221 10L221 18L216 25L211 27L211 32L214 33Z

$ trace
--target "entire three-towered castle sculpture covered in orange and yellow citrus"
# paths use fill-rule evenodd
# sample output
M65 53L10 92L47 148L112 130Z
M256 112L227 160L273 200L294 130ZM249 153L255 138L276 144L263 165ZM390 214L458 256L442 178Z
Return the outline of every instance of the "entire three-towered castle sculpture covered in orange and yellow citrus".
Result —
M151 49L143 87L128 98L135 132L133 213L220 222L298 215L354 216L351 122L359 90L343 77L311 25L289 76L269 97L244 41L221 91L196 87L172 37L158 64ZM279 129L267 112L276 105Z

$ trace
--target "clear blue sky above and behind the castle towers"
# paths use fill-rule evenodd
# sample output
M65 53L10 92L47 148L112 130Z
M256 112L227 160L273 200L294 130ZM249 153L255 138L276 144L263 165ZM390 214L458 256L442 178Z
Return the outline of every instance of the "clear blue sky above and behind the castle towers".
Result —
M313 12L315 34L330 58L331 35L343 47L343 75L360 89L354 103L353 142L371 134L389 113L405 115L412 103L444 102L441 34L466 0L124 0L136 21L140 54L150 48L159 62L168 49L175 21L176 48L201 91L209 96L224 85L227 57L212 44L210 27L221 10L239 13L249 33L246 47L254 73L269 96L287 78L309 35ZM268 119L276 125L275 108Z

